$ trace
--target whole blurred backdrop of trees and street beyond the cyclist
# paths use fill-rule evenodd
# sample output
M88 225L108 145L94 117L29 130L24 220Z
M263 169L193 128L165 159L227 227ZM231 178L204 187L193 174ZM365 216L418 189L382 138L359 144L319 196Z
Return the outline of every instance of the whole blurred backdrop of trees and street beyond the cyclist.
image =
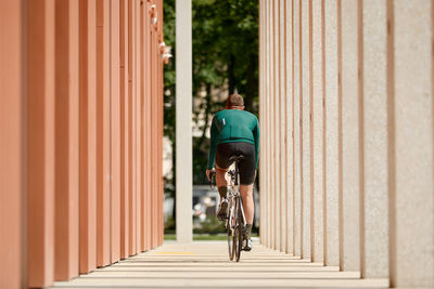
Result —
M218 192L205 175L213 115L230 93L244 97L245 109L258 115L258 3L251 0L193 0L193 232L194 239L225 239L216 219ZM164 1L164 36L175 51L175 0ZM164 71L165 239L175 239L175 100L176 61ZM255 184L257 234L259 200ZM219 235L220 234L220 235Z

